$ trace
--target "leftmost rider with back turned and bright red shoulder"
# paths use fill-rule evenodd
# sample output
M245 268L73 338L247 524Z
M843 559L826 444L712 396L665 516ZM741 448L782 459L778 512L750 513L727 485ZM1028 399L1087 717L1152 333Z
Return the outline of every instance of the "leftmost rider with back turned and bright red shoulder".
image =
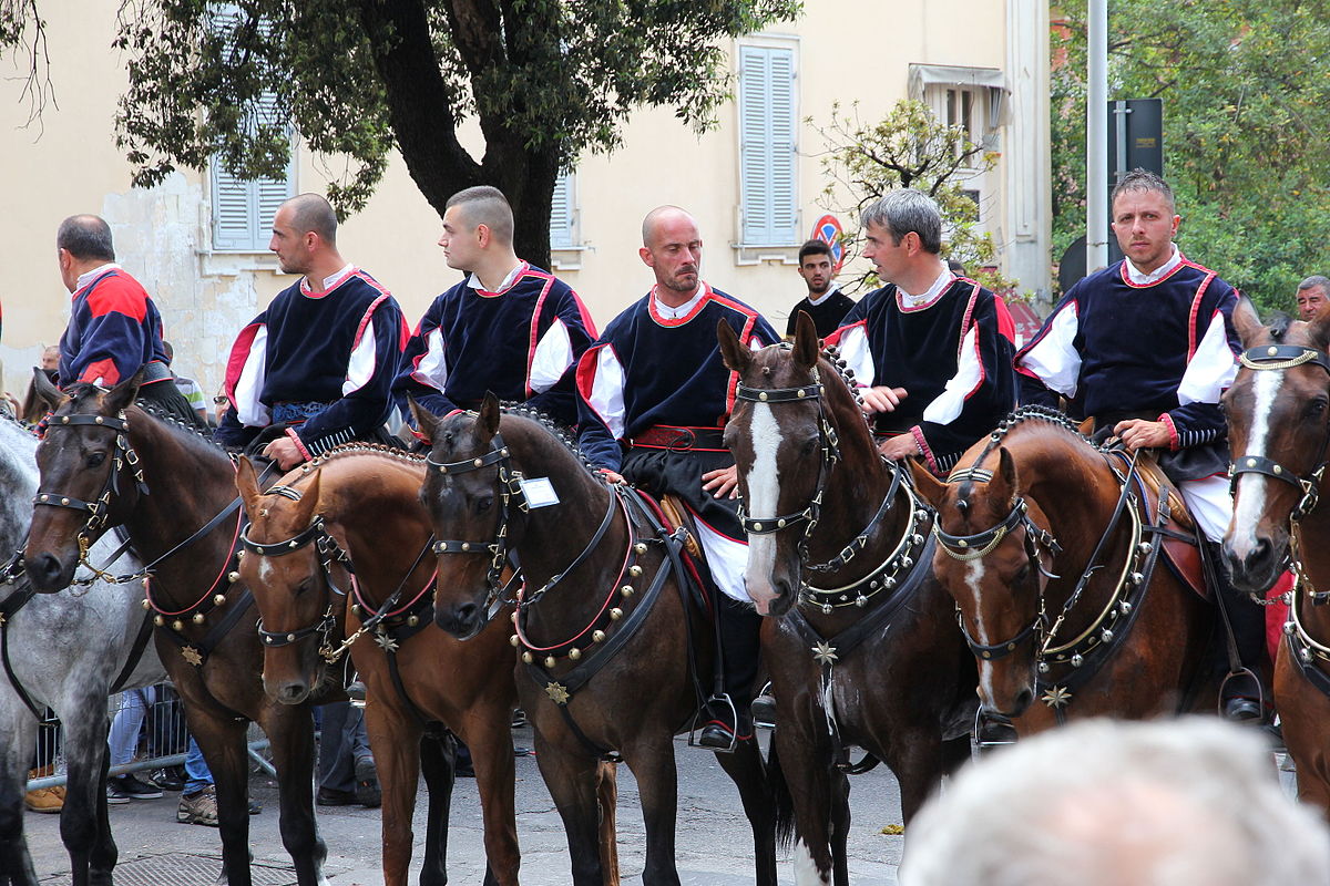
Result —
M73 294L60 336L60 387L89 381L112 388L142 369L138 399L194 424L168 367L161 313L138 280L116 264L110 226L97 215L70 215L60 223L56 251L60 279Z

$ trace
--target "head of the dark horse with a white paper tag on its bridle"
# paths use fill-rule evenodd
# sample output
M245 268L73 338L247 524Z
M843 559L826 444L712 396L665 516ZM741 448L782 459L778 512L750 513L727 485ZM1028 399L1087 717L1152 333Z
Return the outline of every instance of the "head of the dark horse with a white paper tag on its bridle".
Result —
M434 526L439 558L435 623L459 639L479 634L505 567L508 453L495 445L499 399L487 393L477 414L439 418L411 401L416 426L430 441L420 502Z

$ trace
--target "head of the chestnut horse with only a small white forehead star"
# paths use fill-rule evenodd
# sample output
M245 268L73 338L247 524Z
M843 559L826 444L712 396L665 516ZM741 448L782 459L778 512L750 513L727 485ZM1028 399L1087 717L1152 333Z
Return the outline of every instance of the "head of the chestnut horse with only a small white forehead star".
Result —
M263 691L274 701L301 704L327 673L319 647L327 643L330 616L346 607L329 578L331 537L319 518L319 472L289 474L261 493L254 466L242 458L235 487L249 517L239 574L259 611Z

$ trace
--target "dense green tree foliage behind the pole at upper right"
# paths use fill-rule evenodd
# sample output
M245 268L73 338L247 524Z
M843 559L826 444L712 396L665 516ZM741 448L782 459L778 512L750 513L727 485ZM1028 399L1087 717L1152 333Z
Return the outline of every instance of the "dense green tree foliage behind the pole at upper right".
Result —
M1053 29L1055 255L1084 232L1085 7ZM1330 240L1330 21L1302 0L1112 0L1111 98L1164 100L1188 256L1291 308Z

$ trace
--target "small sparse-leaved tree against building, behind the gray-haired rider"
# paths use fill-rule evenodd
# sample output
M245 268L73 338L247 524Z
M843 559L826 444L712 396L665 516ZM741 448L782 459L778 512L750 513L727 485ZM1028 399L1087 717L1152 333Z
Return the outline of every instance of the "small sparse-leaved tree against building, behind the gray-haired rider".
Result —
M919 189L942 209L943 258L960 262L990 288L1011 288L1011 280L982 270L994 260L996 248L992 236L979 230L979 206L964 189L967 170L992 169L996 154L971 142L964 129L943 125L926 104L914 100L898 101L876 124L859 118L858 102L847 114L834 104L831 122L817 132L826 142L823 206L857 221L888 190ZM871 271L854 282L875 283Z

